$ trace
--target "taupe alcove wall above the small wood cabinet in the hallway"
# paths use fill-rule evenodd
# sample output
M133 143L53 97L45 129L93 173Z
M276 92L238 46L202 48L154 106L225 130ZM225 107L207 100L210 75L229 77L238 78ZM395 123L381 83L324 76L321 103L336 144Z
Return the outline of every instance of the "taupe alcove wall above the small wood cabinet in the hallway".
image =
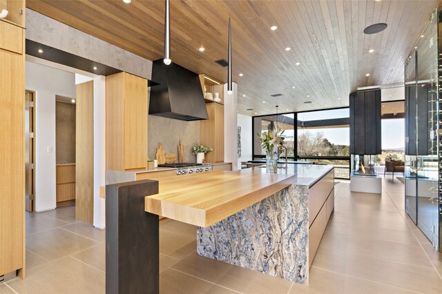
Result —
M55 162L75 164L75 104L55 102Z

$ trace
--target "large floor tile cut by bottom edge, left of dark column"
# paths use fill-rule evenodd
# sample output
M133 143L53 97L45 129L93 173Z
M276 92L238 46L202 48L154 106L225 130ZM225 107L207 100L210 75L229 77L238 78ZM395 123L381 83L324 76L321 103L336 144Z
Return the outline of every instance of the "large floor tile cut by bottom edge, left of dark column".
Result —
M104 293L105 274L83 262L65 257L31 269L26 273L26 280L16 278L8 285L20 294Z

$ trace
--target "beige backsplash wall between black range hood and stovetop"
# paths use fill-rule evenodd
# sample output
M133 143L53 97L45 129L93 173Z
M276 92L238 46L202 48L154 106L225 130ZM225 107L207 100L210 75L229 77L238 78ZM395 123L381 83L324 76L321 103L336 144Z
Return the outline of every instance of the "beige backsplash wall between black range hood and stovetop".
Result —
M193 143L200 143L200 121L180 121L164 117L148 116L148 157L155 159L158 143L162 143L166 153L178 154L180 139L184 145L186 162L196 162L192 154Z

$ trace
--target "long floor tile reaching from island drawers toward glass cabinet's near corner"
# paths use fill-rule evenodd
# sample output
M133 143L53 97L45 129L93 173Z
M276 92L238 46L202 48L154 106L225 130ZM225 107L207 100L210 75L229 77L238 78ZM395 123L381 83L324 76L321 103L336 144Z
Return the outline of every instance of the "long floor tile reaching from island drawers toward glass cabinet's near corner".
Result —
M330 231L327 231L320 242L320 246L336 248L362 255L392 259L407 264L428 267L432 266L430 259L427 258L425 251L423 251L419 245L409 246L362 236L352 236L336 232L330 233Z

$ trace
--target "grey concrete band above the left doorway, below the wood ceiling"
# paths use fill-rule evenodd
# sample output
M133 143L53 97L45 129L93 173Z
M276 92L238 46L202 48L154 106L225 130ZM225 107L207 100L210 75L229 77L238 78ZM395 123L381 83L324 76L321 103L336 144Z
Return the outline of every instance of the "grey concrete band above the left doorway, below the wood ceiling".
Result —
M26 39L151 78L152 61L30 9L26 9Z

